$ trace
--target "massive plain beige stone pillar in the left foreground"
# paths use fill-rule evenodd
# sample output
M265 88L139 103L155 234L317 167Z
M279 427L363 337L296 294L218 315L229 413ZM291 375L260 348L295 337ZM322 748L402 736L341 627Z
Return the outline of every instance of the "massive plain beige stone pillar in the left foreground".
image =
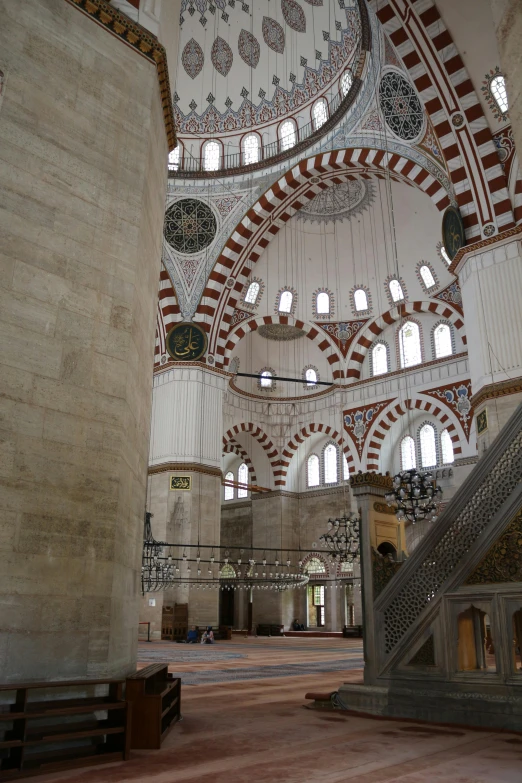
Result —
M64 0L4 0L0 67L0 681L120 676L166 190L158 74Z

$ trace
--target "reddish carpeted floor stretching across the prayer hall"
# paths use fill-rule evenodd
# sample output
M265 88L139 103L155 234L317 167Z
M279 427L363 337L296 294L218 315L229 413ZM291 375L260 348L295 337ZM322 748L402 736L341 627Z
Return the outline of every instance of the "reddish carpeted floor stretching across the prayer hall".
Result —
M133 751L127 762L39 780L521 783L522 735L305 708L307 691L360 682L361 656L355 639L235 638L194 649L141 644L141 665L167 661L184 680L183 720L162 749ZM260 671L263 676L256 677ZM201 678L210 672L212 680Z

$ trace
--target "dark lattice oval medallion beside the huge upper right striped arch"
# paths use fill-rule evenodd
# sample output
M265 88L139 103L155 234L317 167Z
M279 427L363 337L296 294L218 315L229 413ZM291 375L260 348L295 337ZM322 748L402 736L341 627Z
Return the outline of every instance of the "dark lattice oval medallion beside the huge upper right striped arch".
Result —
M416 139L424 126L424 113L411 84L396 71L389 71L381 79L379 95L388 127L404 141Z

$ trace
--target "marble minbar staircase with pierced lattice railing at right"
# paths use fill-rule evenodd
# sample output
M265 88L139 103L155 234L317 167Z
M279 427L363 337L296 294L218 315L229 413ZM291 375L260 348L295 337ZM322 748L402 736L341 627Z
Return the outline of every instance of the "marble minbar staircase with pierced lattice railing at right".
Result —
M334 704L522 731L522 406L389 573L365 585L365 685Z

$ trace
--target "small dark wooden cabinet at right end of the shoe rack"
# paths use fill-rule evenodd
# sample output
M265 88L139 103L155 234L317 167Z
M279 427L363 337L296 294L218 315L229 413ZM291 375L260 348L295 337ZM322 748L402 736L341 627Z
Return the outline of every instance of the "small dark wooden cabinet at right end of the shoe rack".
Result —
M181 680L166 663L152 663L127 677L127 701L132 705L130 747L158 749L181 717Z

